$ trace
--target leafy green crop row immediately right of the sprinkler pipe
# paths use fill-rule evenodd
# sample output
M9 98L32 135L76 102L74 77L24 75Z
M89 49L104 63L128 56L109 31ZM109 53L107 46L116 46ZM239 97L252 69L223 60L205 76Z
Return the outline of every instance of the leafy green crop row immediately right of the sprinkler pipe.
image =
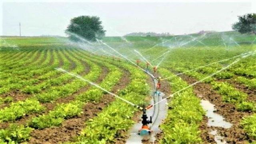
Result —
M163 77L173 76L168 79L173 93L188 86L180 77L166 69L160 68L159 72ZM205 112L200 105L200 99L196 98L192 88L176 94L170 100L168 106L167 118L164 124L160 125L160 129L164 132L160 143L201 143L199 123L202 121Z

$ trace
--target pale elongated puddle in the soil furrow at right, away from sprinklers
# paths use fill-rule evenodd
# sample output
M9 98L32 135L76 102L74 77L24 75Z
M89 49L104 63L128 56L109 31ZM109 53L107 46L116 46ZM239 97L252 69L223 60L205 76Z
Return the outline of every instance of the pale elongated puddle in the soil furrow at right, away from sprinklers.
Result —
M230 128L231 123L226 122L224 117L215 113L214 104L211 104L208 100L201 100L201 106L206 110L206 116L208 117L208 126L218 126L222 128Z

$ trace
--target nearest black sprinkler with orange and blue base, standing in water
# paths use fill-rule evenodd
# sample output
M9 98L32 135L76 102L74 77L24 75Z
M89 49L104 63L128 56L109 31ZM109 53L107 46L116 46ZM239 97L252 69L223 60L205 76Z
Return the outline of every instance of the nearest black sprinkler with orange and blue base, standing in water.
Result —
M146 108L143 108L143 114L142 114L142 127L139 130L139 135L148 135L152 132L152 130L150 130L148 124L152 123L152 117L150 116L150 120L148 120L148 116L146 114Z

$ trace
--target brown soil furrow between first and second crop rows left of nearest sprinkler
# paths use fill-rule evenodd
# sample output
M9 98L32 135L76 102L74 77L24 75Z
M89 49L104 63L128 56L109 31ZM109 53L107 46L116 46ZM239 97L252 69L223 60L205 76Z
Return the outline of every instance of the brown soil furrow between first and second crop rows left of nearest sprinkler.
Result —
M126 87L130 82L130 73L124 72L123 78L112 89L112 92L116 93ZM84 122L90 118L97 116L110 102L113 102L115 98L110 94L105 94L99 102L88 102L83 107L83 113L80 116L68 119L62 123L62 126L45 128L44 130L34 130L31 134L32 139L29 143L42 144L42 143L62 143L66 141L72 141L73 138L78 136L84 127Z

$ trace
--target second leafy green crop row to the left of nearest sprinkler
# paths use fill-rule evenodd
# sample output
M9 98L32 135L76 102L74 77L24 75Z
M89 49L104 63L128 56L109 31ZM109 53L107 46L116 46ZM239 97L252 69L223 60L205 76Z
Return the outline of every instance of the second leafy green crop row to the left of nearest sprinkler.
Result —
M106 63L105 63L106 64ZM122 76L120 69L106 64L106 67L109 68L110 72L107 74L106 78L99 84L102 88L106 90L111 90L112 87L119 81ZM84 78L95 81L96 77ZM83 82L83 81L82 81ZM84 82L85 83L85 82ZM33 118L29 122L29 126L32 128L43 129L50 126L59 126L64 119L77 116L82 113L82 106L88 101L97 101L102 95L105 94L104 91L98 88L91 88L81 94L77 95L75 100L67 104L58 104L54 110L50 111L47 115L42 115L36 118Z

